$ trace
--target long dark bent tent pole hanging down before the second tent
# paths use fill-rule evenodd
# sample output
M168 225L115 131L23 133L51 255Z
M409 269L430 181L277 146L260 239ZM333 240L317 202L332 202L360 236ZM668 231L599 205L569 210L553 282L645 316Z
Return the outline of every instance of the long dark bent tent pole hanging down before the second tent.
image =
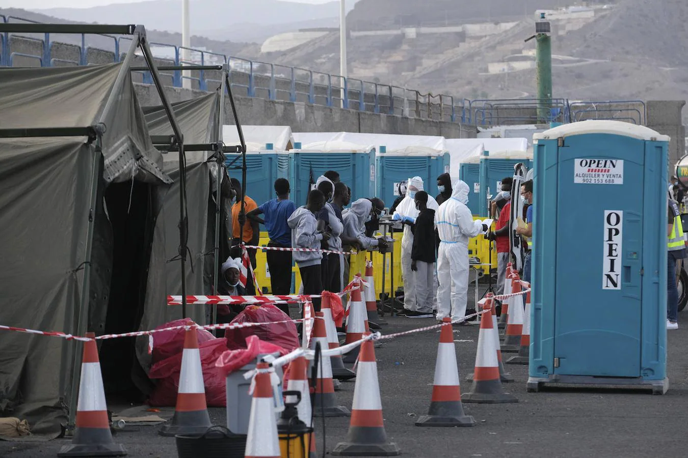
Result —
M136 26L136 34L138 35L138 45L141 47L148 68L151 70L151 76L153 76L155 89L158 90L160 102L162 102L162 106L167 114L167 119L169 119L177 143L179 144L179 257L182 263L182 318L186 318L186 252L188 251L186 238L189 234L189 220L186 216L186 159L184 158L184 135L182 134L179 124L177 124L177 118L175 117L172 105L169 100L167 100L162 82L160 82L160 73L158 73L158 68L155 67L153 54L148 45L144 27Z

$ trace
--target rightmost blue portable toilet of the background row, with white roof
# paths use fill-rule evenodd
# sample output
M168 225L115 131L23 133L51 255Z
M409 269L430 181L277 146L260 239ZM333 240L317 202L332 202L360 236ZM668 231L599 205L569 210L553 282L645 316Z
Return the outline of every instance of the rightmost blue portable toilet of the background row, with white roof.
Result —
M488 195L493 198L502 190L502 179L513 176L514 166L518 163L523 163L528 170L533 168L533 152L497 151L480 157L480 187L486 189L481 193L484 197L482 200L481 196L477 196L480 216L488 216Z

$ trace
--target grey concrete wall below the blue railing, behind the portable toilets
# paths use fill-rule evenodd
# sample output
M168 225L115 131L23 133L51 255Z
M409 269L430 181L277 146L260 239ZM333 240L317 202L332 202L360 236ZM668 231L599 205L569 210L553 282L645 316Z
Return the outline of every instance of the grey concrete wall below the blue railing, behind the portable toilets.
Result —
M171 102L182 102L204 92L165 87ZM136 84L140 104L158 105L160 98L155 87ZM364 132L404 135L442 135L447 138L475 138L477 128L458 122L440 122L397 115L380 115L355 110L235 96L241 124L290 126L294 132ZM226 124L233 124L229 100L225 100Z

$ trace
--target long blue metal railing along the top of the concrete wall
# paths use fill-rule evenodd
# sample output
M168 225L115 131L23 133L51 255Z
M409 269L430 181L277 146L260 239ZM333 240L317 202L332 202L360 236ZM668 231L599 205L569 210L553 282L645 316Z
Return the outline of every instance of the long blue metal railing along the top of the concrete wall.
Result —
M0 14L0 21L30 22L17 16ZM112 54L113 62L122 60L122 40L131 40L128 36L111 36L99 34L112 40L111 49L100 49L87 46L85 34L80 34L78 61L69 56L55 56L54 43L51 34L40 34L43 38L21 36L23 40L38 43L36 54L22 49L23 52L12 51L11 37L17 34L0 34L2 52L0 65L12 67L16 63L14 58L34 59L41 67L53 65L89 65L89 51L105 51ZM469 100L458 99L451 95L431 93L422 94L416 89L380 84L356 78L343 78L330 73L322 73L301 67L289 67L259 60L249 60L235 56L205 51L202 49L186 48L169 45L167 43L149 43L156 60L169 62L170 65L222 65L227 64L230 84L235 93L248 97L267 98L268 100L286 100L289 102L303 102L325 106L342 106L356 111L383 113L396 116L413 116L438 119L466 124L497 125L497 124L533 124L542 122L538 119L537 108L542 101L537 99L504 99L504 100ZM39 49L38 51L37 49ZM167 50L167 51L165 51ZM164 56L162 55L164 54ZM184 59L182 55L186 54ZM98 62L102 62L100 56ZM193 69L191 70L193 71ZM152 83L150 72L142 71L143 82ZM174 87L182 87L184 80L191 80L199 89L208 90L208 83L217 83L208 71L197 71L194 76L182 74L182 71L163 72L166 78L171 78ZM217 77L216 77L217 78ZM213 88L211 88L213 89ZM612 106L610 106L612 104ZM635 105L635 106L634 106ZM620 108L619 108L620 107ZM547 122L574 122L580 119L619 119L635 124L645 124L647 109L645 103L639 100L611 101L611 102L574 102L568 99L555 98L548 101L549 115Z

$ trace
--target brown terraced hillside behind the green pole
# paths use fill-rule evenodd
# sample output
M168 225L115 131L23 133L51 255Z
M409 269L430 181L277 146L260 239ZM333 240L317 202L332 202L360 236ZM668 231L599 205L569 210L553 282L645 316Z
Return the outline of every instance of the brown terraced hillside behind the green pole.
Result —
M392 8L393 3L396 8ZM462 3L464 0L424 3L361 0L349 14L349 23L354 23L350 33L357 30L356 24L361 24L352 18L367 15L370 23L380 19L379 13L374 15L373 5L389 7L392 14L410 12L417 14L419 21L432 21L438 17L442 5L449 8L450 4ZM484 14L480 8L486 8L486 3L496 9L495 5L504 6L507 0L475 3L471 15L476 11ZM537 8L569 4L562 0L535 3ZM422 5L426 13L421 11ZM384 17L389 20L390 16ZM352 78L391 83L422 93L447 93L471 99L533 98L535 41L524 43L525 38L533 35L533 18L522 16L508 30L484 37L420 32L417 36L402 33L350 36L349 73ZM449 25L459 23L457 19ZM390 24L387 22L394 30ZM664 0L662 8L656 8L653 0L619 0L613 8L596 9L594 17L552 20L555 97L572 100L688 98L687 24L686 0ZM400 27L396 25L396 29ZM270 58L338 73L336 35Z

